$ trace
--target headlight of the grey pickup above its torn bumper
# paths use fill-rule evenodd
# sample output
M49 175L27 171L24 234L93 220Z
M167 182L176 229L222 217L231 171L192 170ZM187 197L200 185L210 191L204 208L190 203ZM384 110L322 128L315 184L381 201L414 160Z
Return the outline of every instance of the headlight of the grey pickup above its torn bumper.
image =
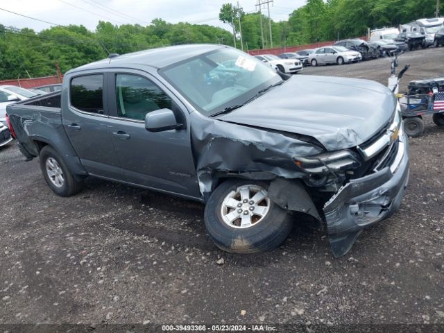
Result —
M352 151L334 151L307 157L293 157L295 164L307 173L331 173L355 169L361 165Z

